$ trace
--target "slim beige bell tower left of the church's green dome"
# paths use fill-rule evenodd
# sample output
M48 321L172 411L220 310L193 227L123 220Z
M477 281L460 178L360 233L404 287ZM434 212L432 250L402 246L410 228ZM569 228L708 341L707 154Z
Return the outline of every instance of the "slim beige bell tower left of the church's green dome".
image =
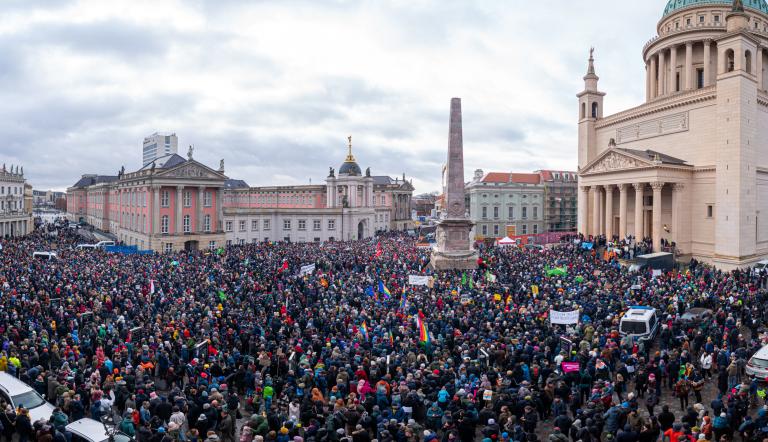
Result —
M597 156L595 122L603 117L604 92L597 90L595 74L595 48L589 50L589 65L584 76L584 90L576 95L579 98L579 168L586 166Z

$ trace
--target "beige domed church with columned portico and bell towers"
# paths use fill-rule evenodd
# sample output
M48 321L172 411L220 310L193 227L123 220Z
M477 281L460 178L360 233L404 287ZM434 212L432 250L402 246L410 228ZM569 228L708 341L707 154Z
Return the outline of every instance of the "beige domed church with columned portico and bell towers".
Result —
M768 255L768 4L670 0L643 49L646 100L579 98L579 231L663 239L722 268Z

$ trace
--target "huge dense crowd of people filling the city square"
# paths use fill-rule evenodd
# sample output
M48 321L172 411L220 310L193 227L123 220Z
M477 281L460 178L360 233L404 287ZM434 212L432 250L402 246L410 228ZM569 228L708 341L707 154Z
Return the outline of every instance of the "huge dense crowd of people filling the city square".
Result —
M0 240L0 371L56 407L31 422L1 398L9 441L70 441L86 417L140 442L768 437L765 387L744 375L764 274L631 273L578 239L483 247L477 270L439 273L395 234L155 255L77 243ZM657 339L619 333L632 305L657 309ZM682 322L691 307L713 314Z

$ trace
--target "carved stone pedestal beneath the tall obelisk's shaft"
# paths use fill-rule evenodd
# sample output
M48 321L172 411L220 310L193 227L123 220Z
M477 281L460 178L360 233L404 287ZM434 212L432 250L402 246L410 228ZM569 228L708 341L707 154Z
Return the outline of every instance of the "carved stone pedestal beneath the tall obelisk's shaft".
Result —
M469 243L472 221L446 219L437 225L437 250L429 265L435 270L473 270L477 268L477 251Z

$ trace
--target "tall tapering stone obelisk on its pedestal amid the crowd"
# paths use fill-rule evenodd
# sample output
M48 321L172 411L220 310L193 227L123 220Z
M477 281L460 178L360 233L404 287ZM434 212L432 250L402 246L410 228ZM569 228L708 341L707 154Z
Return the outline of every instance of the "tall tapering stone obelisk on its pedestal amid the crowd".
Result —
M461 98L451 99L448 129L448 163L445 184L445 216L437 224L437 250L432 252L435 270L477 268L477 251L470 242L472 221L464 202L464 139L461 129Z

